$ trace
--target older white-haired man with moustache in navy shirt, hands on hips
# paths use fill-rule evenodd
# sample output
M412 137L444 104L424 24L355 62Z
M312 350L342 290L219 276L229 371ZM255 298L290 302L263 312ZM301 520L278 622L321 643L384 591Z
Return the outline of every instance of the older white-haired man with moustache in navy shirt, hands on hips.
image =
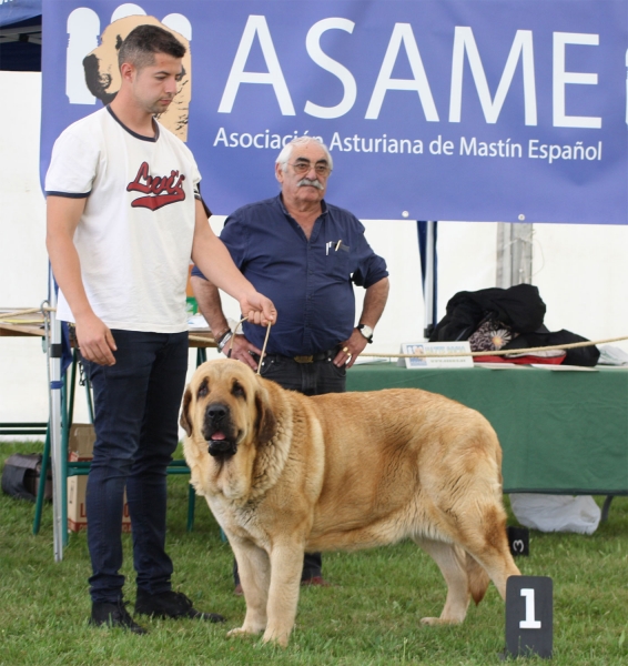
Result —
M262 376L306 395L345 391L346 369L373 341L388 296L386 262L363 224L323 199L332 168L323 143L294 139L275 163L281 194L239 209L221 233L235 265L277 310ZM366 290L357 325L354 284ZM232 341L217 289L197 269L192 286L219 350L257 370L265 329L244 323ZM325 585L320 554L305 555L302 584Z

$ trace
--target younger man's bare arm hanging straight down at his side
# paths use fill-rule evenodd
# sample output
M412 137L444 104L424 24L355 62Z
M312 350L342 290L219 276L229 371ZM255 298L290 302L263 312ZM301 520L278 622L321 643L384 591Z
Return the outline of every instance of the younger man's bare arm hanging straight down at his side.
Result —
M81 354L100 365L113 365L118 349L109 327L93 312L81 278L81 263L74 246L74 231L79 225L87 199L49 195L45 202L45 246L52 272L61 287L77 325Z

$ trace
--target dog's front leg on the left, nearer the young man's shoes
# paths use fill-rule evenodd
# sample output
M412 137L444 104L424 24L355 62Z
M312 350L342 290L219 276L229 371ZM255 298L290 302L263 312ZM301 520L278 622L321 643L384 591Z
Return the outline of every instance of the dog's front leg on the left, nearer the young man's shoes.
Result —
M246 616L244 624L239 629L232 629L227 635L260 634L266 628L271 563L266 552L250 541L232 538L230 543L235 554L237 573L246 601Z

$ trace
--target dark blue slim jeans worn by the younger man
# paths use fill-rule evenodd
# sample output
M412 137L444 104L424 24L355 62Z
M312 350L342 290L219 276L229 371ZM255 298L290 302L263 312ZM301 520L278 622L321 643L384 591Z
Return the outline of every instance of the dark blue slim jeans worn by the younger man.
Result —
M188 332L112 331L115 365L84 361L94 394L94 456L85 508L94 603L122 597L124 487L138 587L171 589L165 553L166 467L176 448L178 416L188 371Z

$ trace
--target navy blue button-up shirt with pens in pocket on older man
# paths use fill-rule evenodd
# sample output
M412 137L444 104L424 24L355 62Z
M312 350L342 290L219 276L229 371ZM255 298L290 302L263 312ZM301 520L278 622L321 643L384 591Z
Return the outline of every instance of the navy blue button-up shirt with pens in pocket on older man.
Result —
M266 352L297 356L331 350L355 325L353 284L369 287L388 275L386 262L348 211L322 201L310 239L281 195L245 205L225 222L221 240L235 265L277 309ZM203 276L195 268L194 275ZM257 347L265 329L244 324Z

